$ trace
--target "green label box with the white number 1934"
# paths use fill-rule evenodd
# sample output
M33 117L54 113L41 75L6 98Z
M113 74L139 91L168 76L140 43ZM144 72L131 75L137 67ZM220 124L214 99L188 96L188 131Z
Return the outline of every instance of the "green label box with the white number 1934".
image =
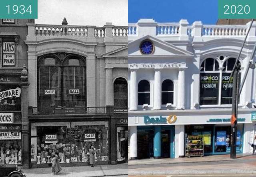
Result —
M0 18L36 19L37 0L0 0Z

